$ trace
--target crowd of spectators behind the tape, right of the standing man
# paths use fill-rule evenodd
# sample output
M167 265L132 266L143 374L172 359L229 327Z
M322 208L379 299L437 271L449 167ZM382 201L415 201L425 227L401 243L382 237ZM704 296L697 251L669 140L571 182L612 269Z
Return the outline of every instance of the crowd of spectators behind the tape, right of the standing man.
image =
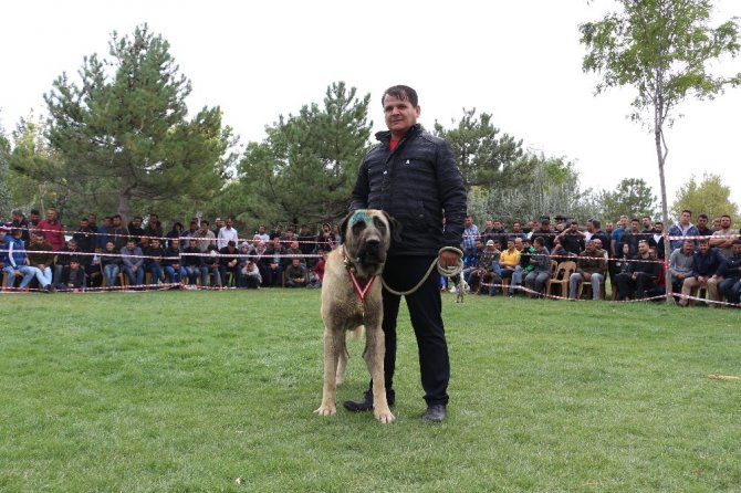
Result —
M666 270L670 270L670 293L687 306L707 296L711 306L739 305L741 292L741 231L731 228L723 214L708 227L709 218L682 211L678 222L665 234L664 224L650 217L615 223L550 218L521 222L505 230L501 221L487 220L479 229L469 216L461 249L462 280L478 294L523 293L529 296L576 300L584 293L592 300L607 296L616 301L662 300L667 295ZM665 256L665 241L670 256ZM460 280L440 277L442 291L455 292ZM551 284L560 292L550 292ZM586 289L585 289L586 287Z

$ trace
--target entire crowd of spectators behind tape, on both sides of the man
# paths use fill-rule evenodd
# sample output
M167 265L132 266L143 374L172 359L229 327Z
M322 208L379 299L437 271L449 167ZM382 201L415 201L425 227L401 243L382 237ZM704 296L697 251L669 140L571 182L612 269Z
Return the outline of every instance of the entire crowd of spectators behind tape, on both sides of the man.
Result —
M615 223L586 224L559 218L514 222L487 220L479 229L466 218L461 242L462 279L471 292L489 295L554 295L575 300L658 300L666 295L665 272L680 305L705 294L711 305L739 304L741 240L731 217L710 222L706 214L691 222L682 211L665 235L664 224L644 217ZM709 227L712 224L712 227ZM671 254L665 259L664 242ZM43 292L92 289L260 289L321 287L326 253L340 245L336 227L312 231L264 224L240 235L232 218L191 218L186 228L173 221L165 229L156 213L82 218L75 228L61 223L55 209L27 218L12 211L0 228L3 290ZM456 291L458 280L440 277L442 291ZM551 284L560 292L551 292ZM586 287L586 290L585 290Z

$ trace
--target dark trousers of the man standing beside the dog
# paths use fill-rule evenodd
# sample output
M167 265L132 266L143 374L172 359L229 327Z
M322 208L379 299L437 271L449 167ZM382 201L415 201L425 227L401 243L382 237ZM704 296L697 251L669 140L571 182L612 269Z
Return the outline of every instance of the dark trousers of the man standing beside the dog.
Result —
M408 291L427 272L432 258L389 258L384 269L384 280L395 291ZM380 280L379 280L380 281ZM394 371L396 368L396 317L399 313L400 296L383 290L384 335L386 357L384 371L386 396L394 402ZM415 293L405 296L409 308L409 318L417 337L419 371L421 374L425 401L428 405L448 403L448 381L450 380L450 360L448 344L442 326L442 302L438 287L437 273L430 274Z

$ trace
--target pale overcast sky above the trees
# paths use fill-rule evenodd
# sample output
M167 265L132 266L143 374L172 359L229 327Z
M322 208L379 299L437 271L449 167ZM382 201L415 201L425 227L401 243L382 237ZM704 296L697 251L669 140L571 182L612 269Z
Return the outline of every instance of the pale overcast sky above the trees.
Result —
M7 133L83 57L107 56L113 31L148 23L170 43L192 83L191 115L220 106L241 144L260 141L279 115L321 103L344 81L370 94L374 130L380 95L394 84L419 94L420 123L451 127L463 108L493 115L502 133L545 156L575 164L582 189L614 190L643 178L659 197L653 135L630 122L630 87L594 95L582 71L580 23L614 9L609 0L163 1L25 0L0 18L0 125ZM741 1L716 0L716 18L741 18ZM711 73L741 72L723 60ZM686 102L666 129L668 202L692 175L720 175L741 204L741 87L714 101ZM495 211L494 211L495 212Z

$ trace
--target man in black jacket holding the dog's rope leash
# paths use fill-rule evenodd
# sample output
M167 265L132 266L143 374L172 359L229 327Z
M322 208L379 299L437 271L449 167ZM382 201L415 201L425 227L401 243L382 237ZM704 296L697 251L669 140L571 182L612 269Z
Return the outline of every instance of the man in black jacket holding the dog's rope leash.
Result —
M417 93L411 87L397 85L384 93L382 102L388 132L376 134L380 144L363 159L351 209L383 209L401 224L401 241L392 243L384 281L396 291L406 291L424 277L441 246L461 243L466 189L450 146L417 124L420 114ZM478 231L474 234L478 235ZM474 240L476 235L471 238ZM459 261L458 253L439 252L439 263L443 268ZM417 291L405 297L419 348L427 402L424 419L442 421L448 405L450 363L437 275L429 275ZM393 384L399 302L399 295L384 290L384 371L389 405L396 397ZM352 411L370 411L370 387L363 400L345 401L344 405Z

